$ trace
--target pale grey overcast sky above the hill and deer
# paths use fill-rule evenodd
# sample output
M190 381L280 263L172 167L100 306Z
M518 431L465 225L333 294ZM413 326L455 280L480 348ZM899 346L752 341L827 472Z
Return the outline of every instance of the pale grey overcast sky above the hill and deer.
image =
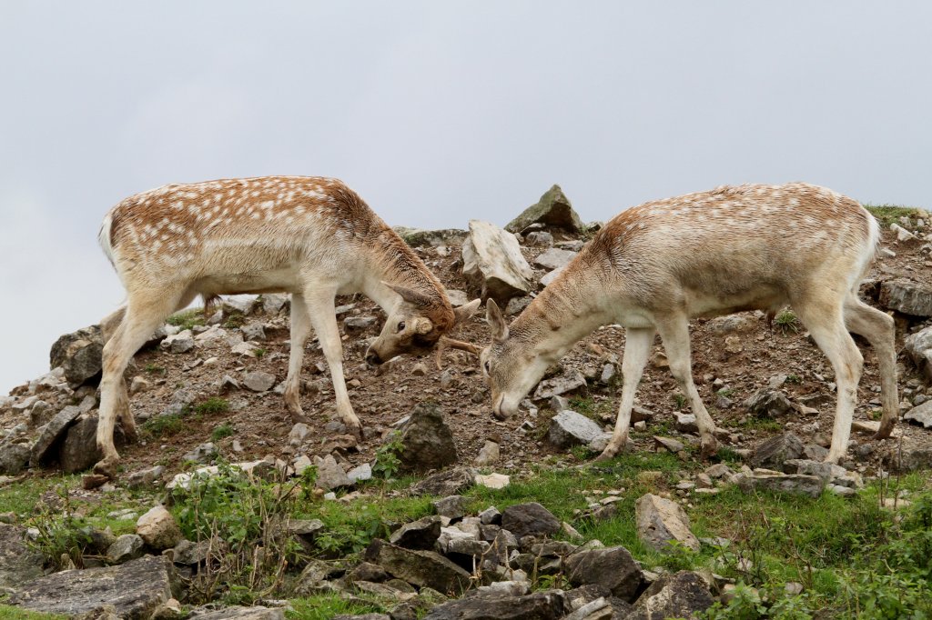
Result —
M338 177L392 225L723 183L932 207L929 2L0 0L0 394L123 291L103 214Z

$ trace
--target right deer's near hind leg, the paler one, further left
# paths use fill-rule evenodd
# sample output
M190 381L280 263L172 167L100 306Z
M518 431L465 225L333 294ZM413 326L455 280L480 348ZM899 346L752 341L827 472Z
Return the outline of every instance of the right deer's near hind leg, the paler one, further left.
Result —
M823 299L813 303L794 305L802 323L813 340L829 357L838 385L838 402L835 405L835 425L831 433L831 448L826 461L838 463L848 450L851 436L851 419L857 401L857 382L861 378L864 358L855 341L844 326L842 303Z

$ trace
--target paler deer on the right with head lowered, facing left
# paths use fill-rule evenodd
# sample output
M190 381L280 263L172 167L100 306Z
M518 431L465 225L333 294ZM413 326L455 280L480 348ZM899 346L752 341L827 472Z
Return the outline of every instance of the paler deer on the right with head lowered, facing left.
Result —
M826 461L847 450L863 357L849 331L873 347L883 417L898 417L894 320L858 299L880 227L857 201L802 182L721 186L646 202L615 216L564 271L505 323L487 303L492 343L480 356L493 414L505 419L569 347L599 326L624 328L624 380L614 431L597 457L624 449L637 384L655 334L695 415L705 459L717 428L692 381L689 319L793 308L835 372L837 402Z

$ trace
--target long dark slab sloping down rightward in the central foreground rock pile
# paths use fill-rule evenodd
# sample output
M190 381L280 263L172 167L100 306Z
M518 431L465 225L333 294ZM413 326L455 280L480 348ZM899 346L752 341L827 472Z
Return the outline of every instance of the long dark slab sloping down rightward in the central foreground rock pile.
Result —
M433 551L405 549L376 539L363 559L409 584L432 587L447 596L459 596L470 586L470 573Z

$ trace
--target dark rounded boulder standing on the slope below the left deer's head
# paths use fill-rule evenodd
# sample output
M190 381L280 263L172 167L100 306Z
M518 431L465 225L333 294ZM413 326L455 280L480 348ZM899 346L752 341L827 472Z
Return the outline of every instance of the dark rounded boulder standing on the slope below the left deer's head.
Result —
M402 428L404 450L398 455L402 470L427 471L459 462L453 432L444 412L432 402L420 403Z

